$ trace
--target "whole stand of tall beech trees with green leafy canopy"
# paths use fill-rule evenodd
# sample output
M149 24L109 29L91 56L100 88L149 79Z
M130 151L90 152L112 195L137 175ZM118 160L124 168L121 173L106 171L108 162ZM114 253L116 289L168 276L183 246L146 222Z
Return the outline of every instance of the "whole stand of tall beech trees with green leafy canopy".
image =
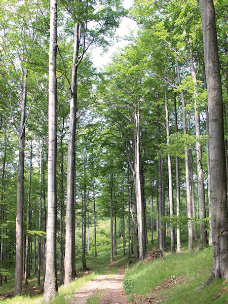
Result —
M227 2L2 0L0 18L1 294L34 275L47 303L101 252L127 278L154 247L208 252L196 287L227 283Z

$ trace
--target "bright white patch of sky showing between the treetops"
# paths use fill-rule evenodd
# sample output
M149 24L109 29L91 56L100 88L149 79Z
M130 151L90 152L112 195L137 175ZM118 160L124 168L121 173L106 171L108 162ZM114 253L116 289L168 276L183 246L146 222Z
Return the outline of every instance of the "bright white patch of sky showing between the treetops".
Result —
M132 0L123 0L125 9L129 9L133 5ZM118 42L114 42L113 46L108 48L106 53L102 52L101 48L94 48L92 50L92 60L95 67L102 68L108 62L111 61L111 56L117 52L120 48L124 48L129 44L128 41L124 41L124 37L130 35L131 30L137 29L137 24L134 20L124 17L121 21L120 27L116 31L116 35L120 37Z

